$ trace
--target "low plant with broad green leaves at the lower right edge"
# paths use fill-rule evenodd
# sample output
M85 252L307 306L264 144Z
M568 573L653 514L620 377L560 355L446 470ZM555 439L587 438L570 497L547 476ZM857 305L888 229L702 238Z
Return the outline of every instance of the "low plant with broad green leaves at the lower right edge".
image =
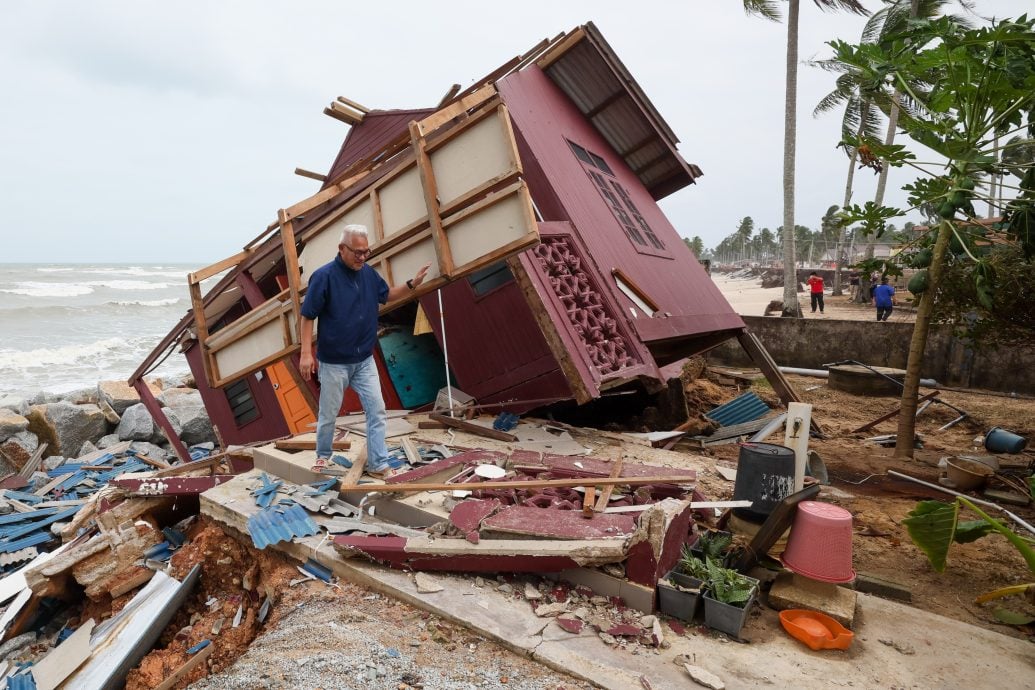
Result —
M981 519L959 521L962 507L972 510ZM1033 548L1035 541L1015 534L1002 521L987 515L963 497L957 497L952 503L921 501L903 520L903 524L909 531L913 543L926 554L931 567L938 572L945 570L949 547L953 542L963 544L980 539L992 532L998 532L1013 544L1028 565L1028 569L1035 573L1035 548ZM975 603L985 603L1014 595L1023 595L1029 601L1035 602L1035 582L994 590L979 596L975 599ZM1009 611L996 613L996 618L1005 622L1005 618L1010 618L1008 613Z

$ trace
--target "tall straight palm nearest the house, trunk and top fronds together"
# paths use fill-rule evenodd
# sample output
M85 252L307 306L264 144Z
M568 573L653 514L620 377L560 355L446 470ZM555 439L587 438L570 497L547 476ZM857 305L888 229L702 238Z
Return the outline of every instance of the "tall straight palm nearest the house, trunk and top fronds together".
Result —
M744 10L771 21L779 21L775 0L743 0ZM820 9L847 9L867 14L858 0L812 0ZM789 0L787 14L787 95L783 100L783 227L794 228L794 159L798 104L798 13L800 0ZM783 234L783 309L781 317L797 317L798 276L794 268L794 233Z

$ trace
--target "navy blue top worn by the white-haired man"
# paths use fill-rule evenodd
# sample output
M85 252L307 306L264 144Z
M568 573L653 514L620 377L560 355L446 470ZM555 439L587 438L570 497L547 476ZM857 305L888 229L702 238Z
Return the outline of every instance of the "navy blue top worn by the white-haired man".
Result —
M369 357L378 341L378 305L387 301L388 283L366 264L353 271L335 256L314 271L302 316L319 320L317 359L356 364Z

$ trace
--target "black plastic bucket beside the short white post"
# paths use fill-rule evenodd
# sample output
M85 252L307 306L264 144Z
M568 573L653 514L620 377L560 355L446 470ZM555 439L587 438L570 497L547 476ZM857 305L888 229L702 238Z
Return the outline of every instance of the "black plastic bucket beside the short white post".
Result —
M751 501L750 508L735 508L741 519L762 521L785 498L794 493L794 450L771 443L740 446L734 501Z

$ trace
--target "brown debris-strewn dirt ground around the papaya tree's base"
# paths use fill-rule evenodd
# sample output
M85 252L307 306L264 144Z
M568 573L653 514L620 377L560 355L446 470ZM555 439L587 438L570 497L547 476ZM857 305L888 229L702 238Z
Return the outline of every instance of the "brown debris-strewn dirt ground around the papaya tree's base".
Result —
M893 409L896 397L862 397L831 390L823 379L789 377L805 402L814 406L814 417L823 425L828 438L814 439L809 448L822 457L830 475L831 485L822 498L842 506L854 517L853 549L855 568L907 587L912 593L912 605L967 623L1025 637L1035 630L1014 628L999 623L993 616L997 605L1035 613L1016 597L999 604L977 605L978 595L1008 584L1030 582L1029 572L1019 553L999 535L989 535L970 544L953 544L948 566L935 572L926 557L913 544L903 518L920 500L949 501L951 497L919 484L886 475L888 470L937 483L940 458L957 454L984 454L975 439L992 426L1003 426L1027 438L1035 438L1035 400L1011 398L978 391L944 391L942 399L969 413L964 422L945 430L938 427L957 415L944 406L929 407L917 420L917 432L924 447L915 451L915 458L894 457L893 448L882 448L865 439L894 433L896 421L884 422L863 433L852 433L862 424ZM771 403L777 400L767 384L757 390ZM776 437L771 442L780 443ZM711 454L721 464L736 467L739 448L736 445L716 446ZM1017 468L1017 474L1031 474L1035 455L1001 455L1004 469ZM1022 470L1027 470L1023 472ZM719 494L732 496L733 482L709 479L705 482ZM990 486L1005 489L994 481ZM718 498L726 498L719 496ZM973 493L972 496L980 496ZM1029 523L1035 521L1031 506L1005 506ZM977 519L977 515L960 519Z

